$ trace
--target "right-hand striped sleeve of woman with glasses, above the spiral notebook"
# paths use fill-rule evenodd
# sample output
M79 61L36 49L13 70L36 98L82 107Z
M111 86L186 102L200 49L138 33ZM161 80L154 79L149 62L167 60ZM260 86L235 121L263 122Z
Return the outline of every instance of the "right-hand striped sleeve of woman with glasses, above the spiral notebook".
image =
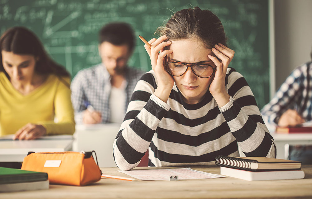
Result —
M276 157L276 147L245 78L233 69L227 75L230 102L220 108L243 153Z

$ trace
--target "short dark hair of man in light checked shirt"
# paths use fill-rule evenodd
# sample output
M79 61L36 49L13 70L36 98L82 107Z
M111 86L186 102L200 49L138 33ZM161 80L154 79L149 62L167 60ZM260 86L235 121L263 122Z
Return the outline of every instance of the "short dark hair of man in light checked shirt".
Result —
M127 44L129 52L134 49L134 32L127 23L110 23L99 32L99 43L109 42L116 46Z

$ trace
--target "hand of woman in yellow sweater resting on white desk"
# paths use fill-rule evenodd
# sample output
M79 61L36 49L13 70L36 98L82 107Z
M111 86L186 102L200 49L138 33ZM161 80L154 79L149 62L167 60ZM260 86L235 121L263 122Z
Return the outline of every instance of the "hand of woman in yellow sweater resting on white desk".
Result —
M15 133L13 140L33 140L45 134L46 128L42 125L28 123Z

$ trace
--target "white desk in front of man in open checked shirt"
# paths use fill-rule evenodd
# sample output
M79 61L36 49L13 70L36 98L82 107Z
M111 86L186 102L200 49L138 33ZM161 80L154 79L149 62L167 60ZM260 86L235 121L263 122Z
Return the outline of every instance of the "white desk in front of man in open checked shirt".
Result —
M119 123L76 125L75 150L94 150L100 167L117 167L113 157L113 143L120 125Z

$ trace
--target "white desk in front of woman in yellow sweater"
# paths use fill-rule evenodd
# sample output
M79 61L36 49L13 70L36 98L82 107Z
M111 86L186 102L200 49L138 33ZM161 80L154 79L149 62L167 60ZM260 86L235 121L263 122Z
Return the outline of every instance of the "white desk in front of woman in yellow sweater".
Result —
M0 138L0 162L22 162L29 151L69 151L73 143L73 137L69 135L46 136L37 140L12 140L10 137Z

